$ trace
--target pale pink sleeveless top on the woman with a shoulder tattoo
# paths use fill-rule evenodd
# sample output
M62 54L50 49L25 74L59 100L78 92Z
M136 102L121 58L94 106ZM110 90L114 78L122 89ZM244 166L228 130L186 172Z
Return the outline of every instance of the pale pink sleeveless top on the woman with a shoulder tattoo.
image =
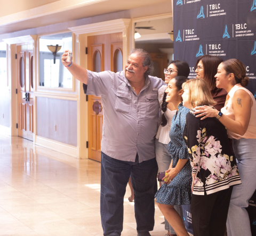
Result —
M231 88L231 90L229 91L229 93L227 95L227 100L226 100L225 106L223 108L221 108L221 112L224 115L228 116L229 118L235 120L232 100L233 100L233 96L234 96L235 92L238 89L243 89L244 91L249 93L249 95L252 98L251 117L250 117L249 126L247 128L247 131L245 132L245 134L243 136L241 136L239 134L235 134L227 129L228 137L230 139L256 139L256 101L254 99L253 94L248 89L244 88L241 84L236 84L233 88Z

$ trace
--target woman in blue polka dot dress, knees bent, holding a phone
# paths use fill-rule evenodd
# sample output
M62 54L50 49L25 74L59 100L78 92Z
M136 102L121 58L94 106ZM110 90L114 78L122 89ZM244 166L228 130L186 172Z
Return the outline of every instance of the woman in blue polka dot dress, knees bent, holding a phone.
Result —
M163 180L167 178L166 184L163 184L155 195L159 209L179 236L189 236L189 234L183 224L183 219L173 206L190 204L192 184L188 149L182 137L186 116L189 112L188 108L183 107L181 96L183 94L182 84L187 80L187 77L177 76L170 80L166 89L166 102L172 102L177 109L177 113L172 119L171 141L167 145L173 162L172 166L170 165L166 170L168 174L163 178Z

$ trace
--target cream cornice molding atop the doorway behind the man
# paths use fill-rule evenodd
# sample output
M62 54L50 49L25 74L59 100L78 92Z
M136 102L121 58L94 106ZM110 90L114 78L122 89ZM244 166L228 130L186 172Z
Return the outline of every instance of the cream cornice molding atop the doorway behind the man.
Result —
M117 20L109 20L109 21L103 21L99 23L92 23L89 25L83 25L83 26L76 26L76 27L70 27L68 28L71 30L74 34L89 34L92 32L100 32L100 31L120 31L122 32L123 29L127 28L131 22L131 19L117 19Z

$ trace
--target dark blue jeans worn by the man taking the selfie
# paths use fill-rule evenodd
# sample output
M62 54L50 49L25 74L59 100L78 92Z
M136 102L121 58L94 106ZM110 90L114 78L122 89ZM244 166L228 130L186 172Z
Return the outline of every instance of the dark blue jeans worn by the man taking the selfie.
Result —
M111 158L101 152L100 214L103 235L121 235L124 217L124 194L131 176L134 211L138 232L154 229L155 193L157 191L156 158L139 163Z

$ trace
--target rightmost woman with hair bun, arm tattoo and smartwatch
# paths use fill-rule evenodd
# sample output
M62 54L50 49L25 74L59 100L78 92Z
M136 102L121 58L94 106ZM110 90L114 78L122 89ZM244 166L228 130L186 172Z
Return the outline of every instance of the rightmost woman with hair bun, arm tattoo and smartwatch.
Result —
M227 219L228 236L251 236L246 207L256 189L256 101L245 88L249 83L244 64L237 59L220 63L215 75L218 88L227 92L225 107L218 112L211 107L196 107L196 117L216 117L233 139L235 156L242 184L233 187ZM198 115L198 113L201 113Z

